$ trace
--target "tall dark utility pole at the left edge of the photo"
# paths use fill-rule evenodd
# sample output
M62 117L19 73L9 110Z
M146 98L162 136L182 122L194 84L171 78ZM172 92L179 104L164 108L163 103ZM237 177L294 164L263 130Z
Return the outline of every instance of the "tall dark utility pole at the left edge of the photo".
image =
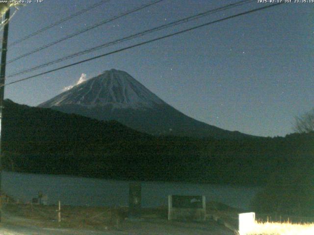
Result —
M4 82L5 82L5 66L6 66L6 50L8 45L8 33L9 33L9 18L10 18L10 7L5 12L4 20L2 16L2 24L3 27L3 38L2 38L2 51L1 51L1 65L0 65L0 196L2 195L1 189L1 174L2 174L2 146L1 146L1 138L2 138L2 110L3 110L3 98L4 98ZM1 203L1 202L0 202ZM0 210L0 222L1 222L1 210Z

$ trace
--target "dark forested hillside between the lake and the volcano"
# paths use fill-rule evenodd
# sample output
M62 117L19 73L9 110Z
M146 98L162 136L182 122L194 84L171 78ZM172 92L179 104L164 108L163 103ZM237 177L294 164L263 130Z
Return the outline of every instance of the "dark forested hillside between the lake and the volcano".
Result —
M242 140L152 137L98 121L6 101L2 165L7 170L114 179L264 185L303 158L313 134Z

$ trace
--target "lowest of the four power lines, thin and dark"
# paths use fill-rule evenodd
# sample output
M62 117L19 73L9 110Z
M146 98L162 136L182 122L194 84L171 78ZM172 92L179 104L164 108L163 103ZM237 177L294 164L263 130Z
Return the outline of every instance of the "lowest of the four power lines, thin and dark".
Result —
M118 50L114 50L114 51L111 51L111 52L108 52L108 53L105 53L105 54L102 54L102 55L98 55L98 56L95 56L95 57L92 57L92 58L89 58L89 59L86 59L86 60L81 60L79 62L70 64L70 65L66 65L66 66L62 66L62 67L59 67L59 68L56 68L56 69L53 69L53 70L50 70L50 71L41 72L41 73L38 73L38 74L35 74L35 75L32 75L32 76L26 77L26 78L22 78L22 79L19 79L19 80L16 80L16 81L13 81L13 82L10 82L10 83L7 83L7 84L0 85L0 87L8 86L8 85L11 85L11 84L14 84L14 83L18 83L18 82L22 82L22 81L25 81L25 80L28 80L28 79L31 79L31 78L34 78L34 77L38 77L40 75L44 75L44 74L51 73L51 72L54 72L54 71L62 70L62 69L68 68L68 67L72 67L72 66L75 66L75 65L78 65L78 64L82 64L84 62L95 60L95 59L98 59L98 58L101 58L101 57L105 57L107 55L115 54L115 53L120 52L120 51L131 49L131 48L134 48L134 47L139 47L139 46L142 46L142 45L145 45L145 44L148 44L148 43L152 43L152 42L155 42L155 41L158 41L158 40L161 40L161 39L169 38L169 37L181 34L181 33L185 33L185 32L197 29L197 28L201 28L201 27L210 25L210 24L222 22L222 21L229 20L229 19L232 19L232 18L235 18L235 17L243 16L243 15L250 14L250 13L253 13L253 12L257 12L257 11L260 11L260 10L263 10L263 9L267 9L267 8L270 8L270 7L278 6L278 5L283 4L283 3L284 2L274 3L274 4L271 4L271 5L255 8L253 10L249 10L249 11L238 13L238 14L235 14L235 15L232 15L232 16L228 16L228 17L225 17L225 18L222 18L222 19L219 19L219 20L211 21L209 23L200 24L198 26L194 26L194 27L191 27L191 28L188 28L188 29L184 29L184 30L176 32L176 33L171 33L171 34L168 34L168 35L165 35L165 36L162 36L162 37L158 37L158 38L155 38L155 39L152 39L152 40L148 40L148 41L145 41L145 42L142 42L142 43L138 43L138 44L135 44L135 45L132 45L132 46L129 46L129 47L124 47L124 48L121 48L121 49L118 49Z

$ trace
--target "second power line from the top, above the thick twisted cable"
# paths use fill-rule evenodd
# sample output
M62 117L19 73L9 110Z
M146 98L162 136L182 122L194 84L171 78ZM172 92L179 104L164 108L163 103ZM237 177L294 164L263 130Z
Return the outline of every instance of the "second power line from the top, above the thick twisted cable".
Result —
M34 50L30 51L30 52L27 52L27 53L25 53L25 54L23 54L23 55L20 55L20 56L16 57L16 58L13 58L13 59L9 60L6 64L10 64L10 63L12 63L12 62L15 62L15 61L21 59L21 58L24 58L24 57L26 57L26 56L28 56L28 55L31 55L31 54L33 54L33 53L35 53L35 52L38 52L38 51L40 51L40 50L46 49L46 48L48 48L48 47L51 47L51 46L53 46L53 45L55 45L55 44L57 44L57 43L60 43L60 42L62 42L62 41L64 41L64 40L67 40L67 39L73 38L73 37L75 37L75 36L78 36L79 34L84 33L84 32L87 32L87 31L89 31L89 30L91 30L91 29L94 29L94 28L100 26L100 25L103 25L103 24L109 23L109 22L111 22L111 21L114 21L114 20L116 20L116 19L119 19L119 18L121 18L121 17L127 16L127 15L129 15L129 14L131 14L131 13L133 13L133 12L139 11L139 10L141 10L141 9L143 9L143 8L148 7L148 6L157 4L157 3L160 2L160 1L163 1L163 0L155 0L154 2L151 2L151 3L149 3L149 4L142 5L142 6L140 6L140 7L137 7L137 8L135 8L135 9L132 9L132 10L130 10L130 11L127 11L127 12L125 12L125 13L122 13L122 14L120 14L120 15L114 16L113 18L110 18L110 19L108 19L108 20L105 20L105 21L99 22L99 23L97 23L97 24L94 24L94 25L92 25L92 26L89 26L89 27L87 27L87 28L84 28L84 29L82 29L82 30L80 30L80 31L78 31L78 32L75 32L75 33L73 33L73 34L70 34L70 35L68 35L68 36L66 36L66 37L64 37L64 38L61 38L61 39L57 40L57 41L54 41L54 42L49 43L49 44L47 44L47 45L44 45L44 46L42 46L42 47L38 47L38 48L36 48L36 49L34 49Z

